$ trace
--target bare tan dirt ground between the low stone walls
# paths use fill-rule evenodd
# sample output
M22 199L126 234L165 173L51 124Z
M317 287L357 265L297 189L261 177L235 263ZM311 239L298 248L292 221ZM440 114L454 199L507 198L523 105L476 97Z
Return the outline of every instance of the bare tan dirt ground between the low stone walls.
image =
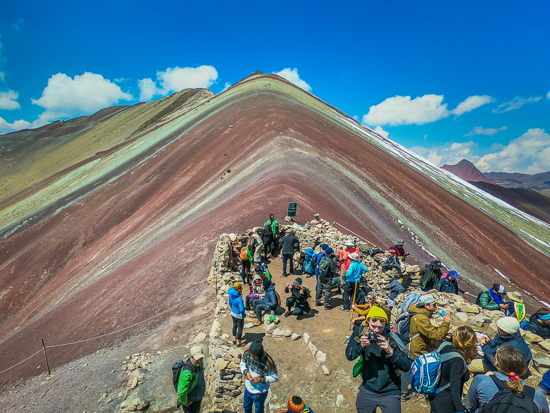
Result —
M281 304L285 305L284 287L287 282L292 283L296 277L303 279L303 285L311 288L314 297L316 278L306 278L303 275L289 275L282 277L283 266L281 258L268 260L272 279L276 284L276 290L281 295ZM283 309L278 308L277 315L281 317L281 324L278 328L281 330L290 330L303 335L305 332L311 337L311 341L318 350L327 354L326 366L330 370L329 376L325 376L316 361L316 357L311 354L308 346L303 339L292 341L289 338L265 337L263 326L253 327L244 330L244 339L248 343L258 338L264 338L265 350L274 358L279 380L272 385L272 398L270 407L272 412L275 407L282 405L291 394L298 394L305 399L308 405L316 413L331 413L336 410L336 397L338 394L344 396L343 404L337 410L342 412L355 411L355 397L358 387L361 383L360 378L351 376L353 362L345 357L346 336L351 335L349 330L349 321L351 313L340 310L342 304L342 295L337 293L336 289L331 294L331 309L324 310L322 306L315 307L315 299L310 299L311 313L303 319L296 319L294 315L283 317ZM355 317L357 313L355 313ZM223 318L227 320L222 322L223 332L231 335L230 316ZM255 321L247 317L245 322ZM267 405L266 405L267 407ZM403 404L403 412L423 413L429 412L427 403L423 400L417 402L409 401Z

